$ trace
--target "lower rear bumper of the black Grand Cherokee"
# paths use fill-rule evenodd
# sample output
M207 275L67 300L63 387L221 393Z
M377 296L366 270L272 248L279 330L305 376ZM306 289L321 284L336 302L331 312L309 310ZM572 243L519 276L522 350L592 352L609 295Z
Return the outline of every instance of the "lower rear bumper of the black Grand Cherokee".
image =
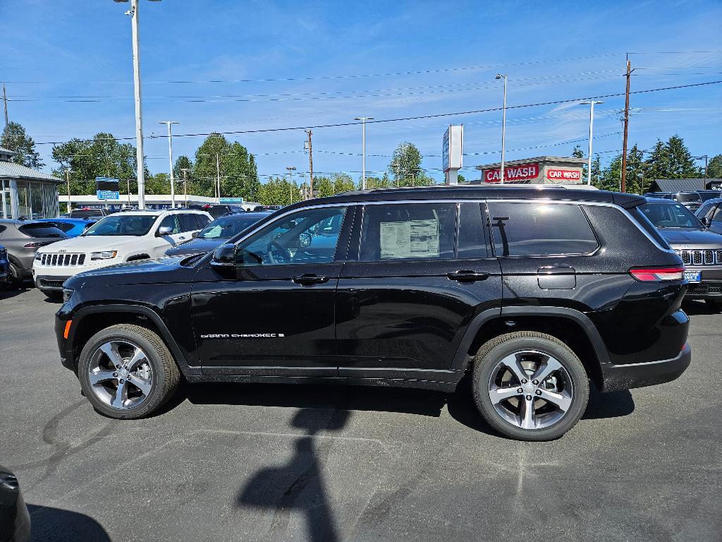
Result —
M664 384L682 376L692 362L692 347L685 344L676 358L645 364L602 364L602 391L629 390L635 387Z

